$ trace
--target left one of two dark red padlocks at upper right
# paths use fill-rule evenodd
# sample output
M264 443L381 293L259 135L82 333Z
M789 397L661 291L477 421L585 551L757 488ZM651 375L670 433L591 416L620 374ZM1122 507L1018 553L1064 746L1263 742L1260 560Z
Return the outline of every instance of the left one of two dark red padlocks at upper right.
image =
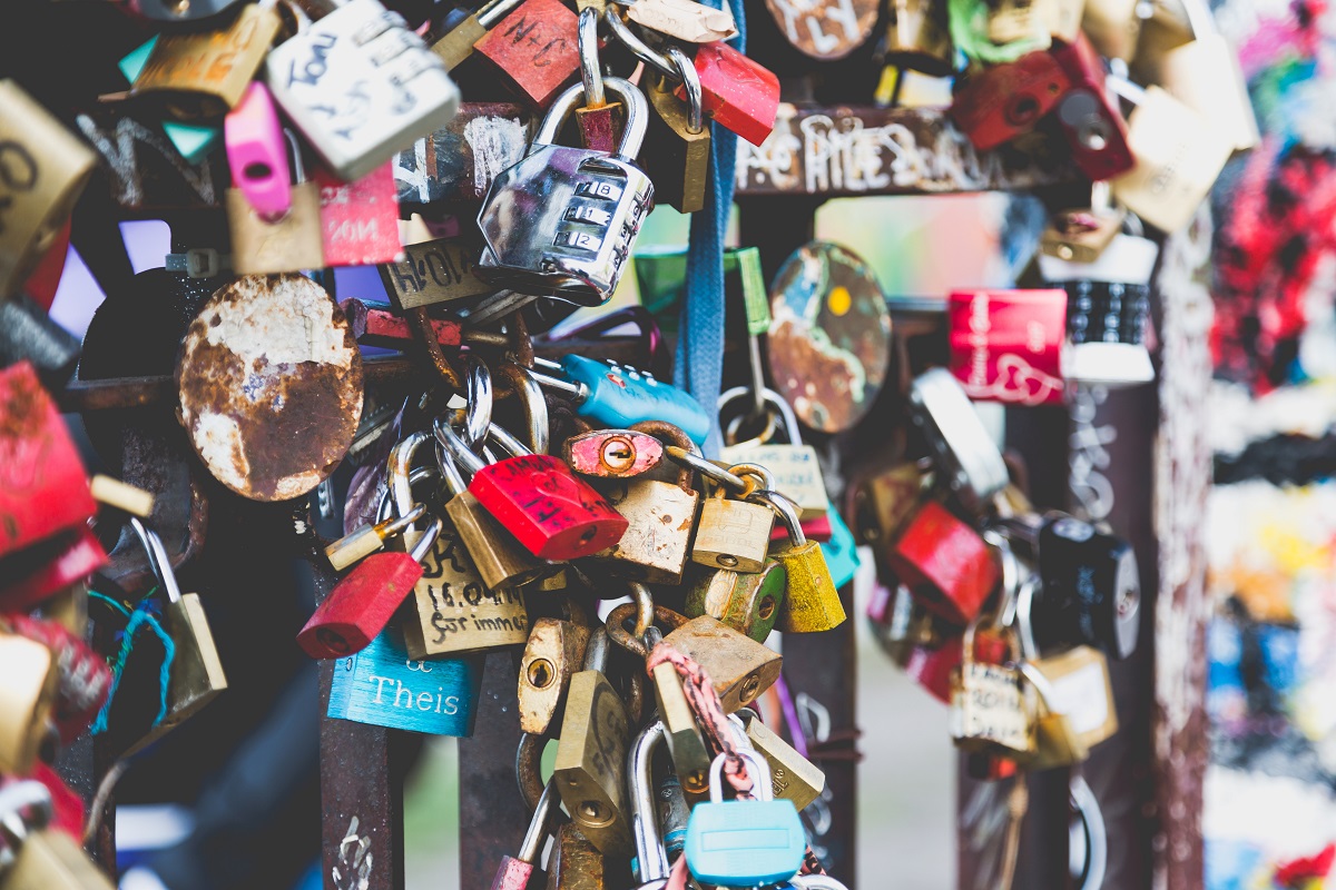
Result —
M989 151L1034 129L1070 88L1053 53L1030 52L957 80L951 119L975 148Z

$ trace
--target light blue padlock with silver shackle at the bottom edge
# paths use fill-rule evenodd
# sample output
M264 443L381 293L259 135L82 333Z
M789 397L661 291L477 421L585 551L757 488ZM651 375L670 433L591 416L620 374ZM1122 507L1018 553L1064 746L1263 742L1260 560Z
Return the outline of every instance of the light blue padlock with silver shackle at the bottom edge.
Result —
M687 867L701 883L755 887L788 881L803 865L807 838L792 801L774 799L770 769L751 749L747 761L756 801L723 799L724 757L709 765L709 803L697 803L687 822Z

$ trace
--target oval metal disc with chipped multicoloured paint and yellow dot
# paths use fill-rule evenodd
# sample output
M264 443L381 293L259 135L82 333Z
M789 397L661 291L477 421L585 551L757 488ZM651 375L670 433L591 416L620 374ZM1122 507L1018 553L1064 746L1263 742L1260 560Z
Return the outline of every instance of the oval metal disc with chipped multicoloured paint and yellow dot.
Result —
M811 242L784 260L770 304L775 388L812 430L852 428L891 360L891 315L872 270L843 247Z

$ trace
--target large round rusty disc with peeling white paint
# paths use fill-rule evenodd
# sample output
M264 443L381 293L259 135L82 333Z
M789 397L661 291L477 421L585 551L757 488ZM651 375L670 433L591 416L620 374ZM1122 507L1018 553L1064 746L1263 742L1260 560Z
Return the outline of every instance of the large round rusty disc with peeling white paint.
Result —
M186 330L178 419L208 471L289 500L338 467L362 414L362 358L338 304L302 275L246 275Z

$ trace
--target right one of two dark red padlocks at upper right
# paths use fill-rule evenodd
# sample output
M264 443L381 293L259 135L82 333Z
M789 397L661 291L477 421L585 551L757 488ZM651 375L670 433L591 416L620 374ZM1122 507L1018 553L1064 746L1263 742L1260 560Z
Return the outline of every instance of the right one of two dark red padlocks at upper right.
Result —
M1071 87L1058 101L1058 124L1071 145L1077 168L1096 181L1109 180L1136 165L1128 147L1128 121L1105 89L1104 60L1086 36L1054 45L1053 57Z

